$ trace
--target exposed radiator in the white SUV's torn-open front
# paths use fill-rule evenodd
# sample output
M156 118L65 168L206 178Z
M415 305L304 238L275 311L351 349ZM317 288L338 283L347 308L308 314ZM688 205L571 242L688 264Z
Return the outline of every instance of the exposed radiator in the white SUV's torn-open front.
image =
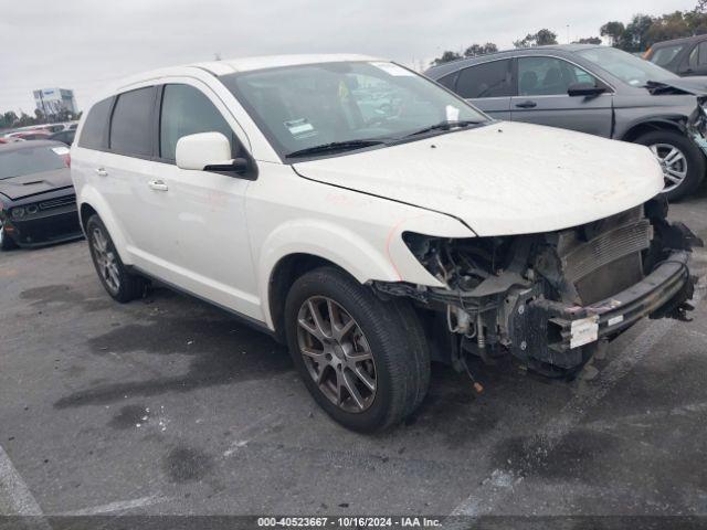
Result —
M651 240L643 206L562 232L558 257L564 279L584 305L609 298L643 279L641 253Z

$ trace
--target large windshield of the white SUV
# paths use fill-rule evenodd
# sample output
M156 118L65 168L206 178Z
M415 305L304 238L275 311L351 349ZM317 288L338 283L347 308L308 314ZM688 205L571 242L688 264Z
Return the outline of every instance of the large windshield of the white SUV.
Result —
M489 118L433 82L388 62L336 62L221 77L282 158L328 144L395 141L441 123ZM424 130L441 134L451 127ZM379 142L376 142L379 144Z

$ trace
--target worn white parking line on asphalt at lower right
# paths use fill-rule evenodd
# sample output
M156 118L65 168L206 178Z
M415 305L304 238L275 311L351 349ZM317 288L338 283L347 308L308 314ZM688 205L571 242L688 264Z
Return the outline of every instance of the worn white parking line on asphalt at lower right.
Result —
M695 290L693 301L700 300L701 292ZM581 388L570 401L542 428L534 435L534 446L539 458L548 455L562 438L574 428L587 412L599 403L633 368L643 360L652 346L655 346L677 320L654 320L626 347L625 350L602 370L588 386ZM494 513L513 495L515 486L523 480L508 471L494 469L490 476L466 499L460 502L451 516L481 517Z

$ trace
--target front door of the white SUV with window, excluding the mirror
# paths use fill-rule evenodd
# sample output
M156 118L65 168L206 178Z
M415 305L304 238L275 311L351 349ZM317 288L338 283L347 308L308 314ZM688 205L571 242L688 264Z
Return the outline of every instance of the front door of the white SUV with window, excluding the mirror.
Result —
M180 169L177 141L197 132L222 132L233 158L243 149L224 105L192 80L160 87L159 158L135 182L149 230L145 253L156 275L182 289L249 317L261 316L245 222L249 180L213 171ZM234 123L235 125L235 123Z

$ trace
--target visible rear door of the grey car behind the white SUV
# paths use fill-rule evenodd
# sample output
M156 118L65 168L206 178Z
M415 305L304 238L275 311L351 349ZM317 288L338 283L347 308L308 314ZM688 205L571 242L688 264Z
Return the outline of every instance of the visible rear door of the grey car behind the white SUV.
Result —
M475 64L440 80L475 107L496 119L510 119L511 60Z

